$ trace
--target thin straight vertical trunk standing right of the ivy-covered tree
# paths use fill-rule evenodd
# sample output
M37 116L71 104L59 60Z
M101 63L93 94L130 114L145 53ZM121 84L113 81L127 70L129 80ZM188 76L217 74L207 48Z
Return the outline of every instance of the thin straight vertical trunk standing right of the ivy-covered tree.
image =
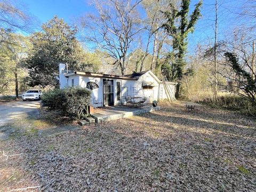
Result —
M217 101L217 33L218 33L218 0L215 0L215 31L214 31L214 101Z

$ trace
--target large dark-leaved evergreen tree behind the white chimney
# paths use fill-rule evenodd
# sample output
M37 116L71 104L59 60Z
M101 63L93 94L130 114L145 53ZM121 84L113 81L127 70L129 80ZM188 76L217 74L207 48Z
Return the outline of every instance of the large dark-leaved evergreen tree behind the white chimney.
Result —
M60 62L68 63L70 69L85 68L85 52L75 38L76 33L63 19L54 17L43 24L41 32L31 35L33 51L26 59L28 85L57 85L55 77Z

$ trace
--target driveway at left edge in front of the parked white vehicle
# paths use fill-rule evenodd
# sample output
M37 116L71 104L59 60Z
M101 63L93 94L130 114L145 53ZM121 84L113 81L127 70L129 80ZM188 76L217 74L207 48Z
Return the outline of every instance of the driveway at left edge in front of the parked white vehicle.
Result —
M38 113L39 101L13 101L0 103L0 126L11 123L14 118L27 117Z

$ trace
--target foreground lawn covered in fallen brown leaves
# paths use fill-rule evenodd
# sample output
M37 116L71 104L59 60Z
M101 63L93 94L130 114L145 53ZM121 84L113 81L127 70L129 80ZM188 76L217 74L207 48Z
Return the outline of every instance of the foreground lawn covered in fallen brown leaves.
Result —
M51 137L22 135L0 142L0 190L256 191L255 127L231 111L173 105Z

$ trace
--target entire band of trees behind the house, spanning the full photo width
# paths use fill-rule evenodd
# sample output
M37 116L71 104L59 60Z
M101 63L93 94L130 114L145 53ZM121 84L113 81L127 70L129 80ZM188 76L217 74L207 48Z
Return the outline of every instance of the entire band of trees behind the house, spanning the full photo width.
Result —
M92 5L94 13L78 17L73 25L55 16L35 32L31 15L10 0L1 1L0 93L13 85L18 94L18 83L57 86L60 62L68 63L70 70L116 75L150 69L177 82L176 96L187 99L192 90L210 89L216 100L217 89L230 88L228 81L234 82L231 91L241 94L243 86L237 82L246 73L255 76L254 52L248 49L255 26L236 28L234 36L217 41L217 0L215 41L199 43L194 55L188 55L188 36L202 17L202 1L193 5L190 0L94 0ZM239 19L251 17L254 23L253 15L245 7ZM20 35L21 31L29 35ZM238 73L241 70L246 73ZM198 81L198 76L204 80ZM252 81L250 87L255 85L254 79L247 79L247 83ZM250 94L247 83L242 95Z

